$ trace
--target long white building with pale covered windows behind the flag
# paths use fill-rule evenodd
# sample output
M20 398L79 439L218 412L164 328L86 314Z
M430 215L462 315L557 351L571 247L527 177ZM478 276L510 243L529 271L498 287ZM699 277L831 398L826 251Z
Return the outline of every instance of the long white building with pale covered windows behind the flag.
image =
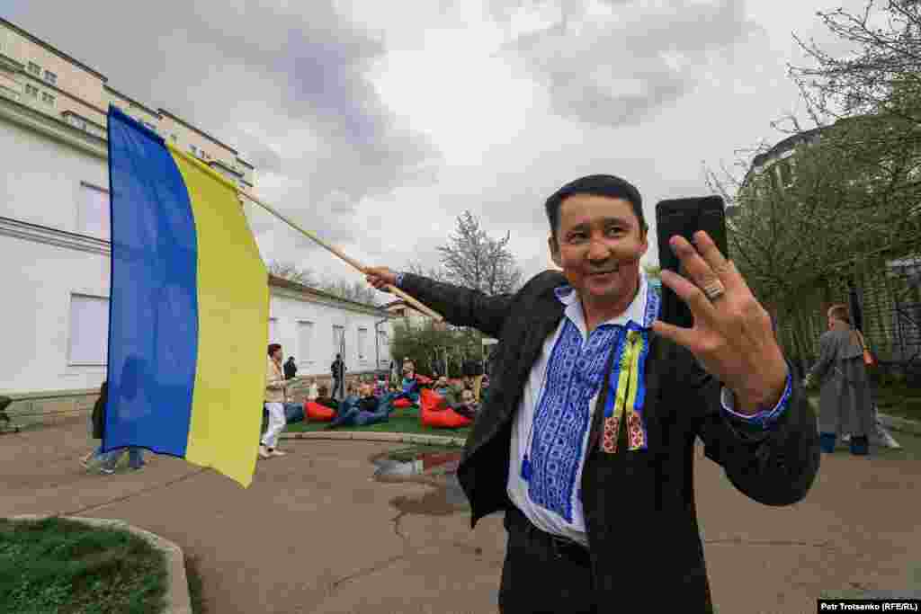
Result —
M14 408L86 409L108 350L106 142L0 95L0 161L0 394ZM284 280L270 289L270 337L297 357L298 376L327 375L337 346L352 374L373 370L379 344L389 365L383 309Z

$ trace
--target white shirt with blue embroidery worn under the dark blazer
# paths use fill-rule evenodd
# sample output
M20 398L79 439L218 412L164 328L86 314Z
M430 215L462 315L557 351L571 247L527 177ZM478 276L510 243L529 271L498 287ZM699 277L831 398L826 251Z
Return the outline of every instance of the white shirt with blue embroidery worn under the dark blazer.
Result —
M659 292L641 274L639 291L626 311L600 324L591 335L576 292L562 286L556 296L565 305L564 317L543 342L525 382L512 425L507 492L535 527L588 546L579 485L603 367L628 326L651 328L659 317ZM638 377L645 377L643 369ZM754 415L734 411L732 394L723 388L723 411L767 429L786 410L791 386L792 377L787 376L781 400Z

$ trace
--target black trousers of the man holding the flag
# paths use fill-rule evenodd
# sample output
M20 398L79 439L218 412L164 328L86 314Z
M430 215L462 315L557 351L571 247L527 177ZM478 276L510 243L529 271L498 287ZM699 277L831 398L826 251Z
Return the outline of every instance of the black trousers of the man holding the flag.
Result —
M506 512L502 614L596 614L589 550L544 533L518 508Z

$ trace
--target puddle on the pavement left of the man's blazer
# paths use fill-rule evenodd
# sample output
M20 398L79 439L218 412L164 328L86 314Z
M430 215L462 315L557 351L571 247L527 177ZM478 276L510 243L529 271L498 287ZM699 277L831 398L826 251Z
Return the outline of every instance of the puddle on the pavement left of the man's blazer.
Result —
M375 481L409 481L432 487L423 495L401 495L391 499L391 505L401 516L448 516L470 509L457 478L460 450L418 452L407 460L390 458L390 454L371 458L376 467Z

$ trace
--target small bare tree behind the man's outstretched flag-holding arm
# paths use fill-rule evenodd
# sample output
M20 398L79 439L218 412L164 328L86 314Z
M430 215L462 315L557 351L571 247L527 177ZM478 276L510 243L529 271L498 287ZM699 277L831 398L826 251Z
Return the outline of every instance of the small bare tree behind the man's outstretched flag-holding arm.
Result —
M479 290L485 295L512 293L519 289L523 273L507 249L510 234L490 237L469 211L458 217L455 235L438 248L443 278Z

